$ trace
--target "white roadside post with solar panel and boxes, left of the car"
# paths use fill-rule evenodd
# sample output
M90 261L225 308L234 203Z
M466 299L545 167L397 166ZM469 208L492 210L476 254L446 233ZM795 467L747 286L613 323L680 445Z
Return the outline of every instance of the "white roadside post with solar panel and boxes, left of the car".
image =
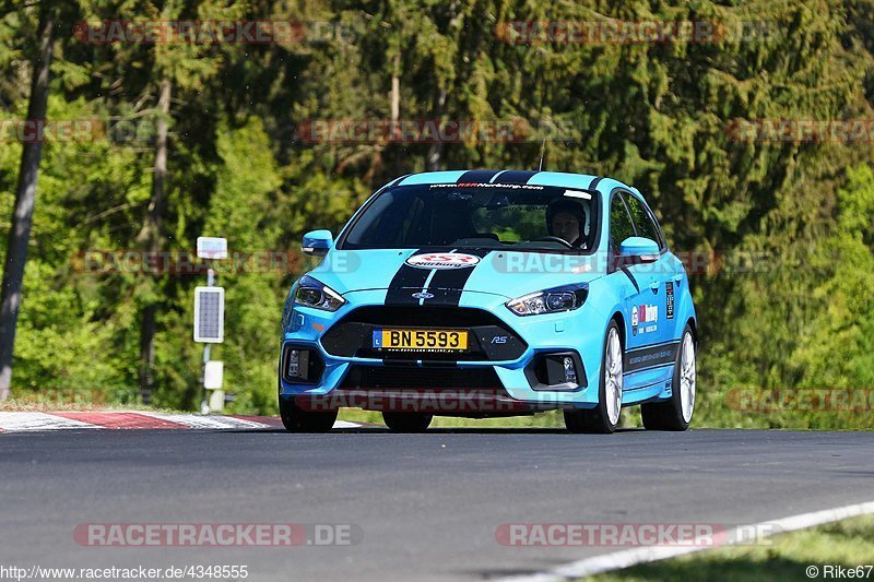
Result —
M221 390L224 372L221 361L210 361L210 346L221 344L225 338L225 289L215 286L212 261L227 259L227 239L198 237L198 258L208 259L211 265L206 271L206 286L194 288L194 342L203 344L203 401L200 413L209 414L212 407L206 391ZM221 407L217 407L216 412L218 411Z

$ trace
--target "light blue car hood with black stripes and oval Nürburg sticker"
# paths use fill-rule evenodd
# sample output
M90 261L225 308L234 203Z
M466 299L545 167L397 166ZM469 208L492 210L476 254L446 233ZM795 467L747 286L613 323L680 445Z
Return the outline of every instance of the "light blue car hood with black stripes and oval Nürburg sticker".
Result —
M450 253L452 250L334 249L309 275L341 295L394 287L415 290L456 288L515 299L562 285L587 283L604 274L603 268L597 264L595 256L576 257L499 249L460 249ZM450 254L449 258L447 253ZM460 254L473 259L458 258ZM437 256L437 261L429 262L428 259L435 259L434 256ZM456 258L462 265L437 270L429 268L440 264L441 260L454 262ZM465 260L469 261L468 264L463 264ZM426 278L432 273L435 276ZM439 277L437 273L440 273ZM427 284L422 284L423 280Z

